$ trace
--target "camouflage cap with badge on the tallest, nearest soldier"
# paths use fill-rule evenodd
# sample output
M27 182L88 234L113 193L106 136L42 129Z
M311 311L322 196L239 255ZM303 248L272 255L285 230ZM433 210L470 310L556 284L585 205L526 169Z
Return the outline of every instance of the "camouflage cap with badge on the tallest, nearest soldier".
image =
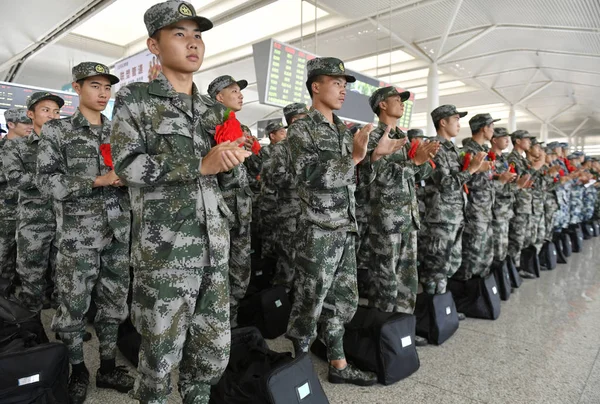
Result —
M144 24L146 24L149 37L159 29L181 20L196 21L200 31L208 31L213 27L208 18L196 15L194 6L186 1L168 0L158 3L146 10L144 14Z

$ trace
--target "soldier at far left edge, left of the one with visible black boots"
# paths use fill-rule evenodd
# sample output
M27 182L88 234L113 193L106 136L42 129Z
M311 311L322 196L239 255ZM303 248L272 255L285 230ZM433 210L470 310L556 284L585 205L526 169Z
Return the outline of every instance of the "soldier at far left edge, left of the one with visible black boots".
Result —
M7 143L2 156L9 186L19 190L17 273L22 283L19 298L34 312L45 305L47 271L54 273L56 257L52 198L38 189L35 165L42 125L60 118L64 103L49 92L33 93L27 100L27 116L33 121L33 131L27 137Z

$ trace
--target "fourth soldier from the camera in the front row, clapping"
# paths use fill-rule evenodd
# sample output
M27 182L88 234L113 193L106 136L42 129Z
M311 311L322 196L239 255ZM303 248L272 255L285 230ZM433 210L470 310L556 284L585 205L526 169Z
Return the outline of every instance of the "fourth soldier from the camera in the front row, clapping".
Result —
M467 201L465 184L483 164L486 153L477 153L465 170L458 148L452 142L460 131L460 118L467 112L458 112L454 105L442 105L431 112L437 131L436 141L441 144L433 159L436 169L427 181L431 185L429 204L425 215L422 263L419 282L429 294L446 293L448 278L454 275L462 261L462 233Z

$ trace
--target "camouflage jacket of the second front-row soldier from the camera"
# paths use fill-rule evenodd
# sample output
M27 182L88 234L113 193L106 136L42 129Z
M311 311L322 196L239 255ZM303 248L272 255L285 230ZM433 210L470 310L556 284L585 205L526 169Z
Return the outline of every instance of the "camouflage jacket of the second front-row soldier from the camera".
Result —
M298 176L301 219L325 230L356 232L356 169L346 125L335 114L331 123L311 108L289 127L287 137Z

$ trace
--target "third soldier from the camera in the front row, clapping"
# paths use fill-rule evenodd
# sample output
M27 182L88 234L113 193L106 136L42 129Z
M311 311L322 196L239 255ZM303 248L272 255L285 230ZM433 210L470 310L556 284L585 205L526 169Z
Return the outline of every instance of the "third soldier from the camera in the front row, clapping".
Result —
M367 158L359 165L369 178L369 306L381 311L412 314L419 285L417 275L417 231L420 227L415 182L428 178L433 167L429 162L439 144L421 143L409 157L410 143L396 127L404 114L408 91L395 87L376 90L369 98L379 124L369 136ZM389 129L388 129L389 128ZM389 135L384 133L389 132ZM371 155L382 136L405 142L396 153L371 163Z

